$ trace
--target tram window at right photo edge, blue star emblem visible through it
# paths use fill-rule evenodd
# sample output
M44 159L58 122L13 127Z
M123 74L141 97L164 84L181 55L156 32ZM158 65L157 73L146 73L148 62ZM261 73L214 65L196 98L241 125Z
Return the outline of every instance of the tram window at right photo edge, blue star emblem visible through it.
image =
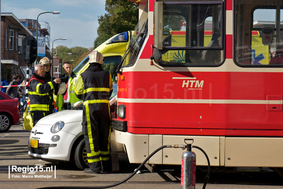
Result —
M283 1L235 0L234 3L238 10L234 12L236 62L243 66L283 66Z

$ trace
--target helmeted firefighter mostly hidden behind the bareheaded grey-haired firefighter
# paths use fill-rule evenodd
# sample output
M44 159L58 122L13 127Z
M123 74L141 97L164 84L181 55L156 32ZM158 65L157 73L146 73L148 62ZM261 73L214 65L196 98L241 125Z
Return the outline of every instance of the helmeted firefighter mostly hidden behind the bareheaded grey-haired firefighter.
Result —
M42 65L45 66L45 76L44 76L45 81L46 82L51 81L52 77L51 77L50 72L49 72L50 68L52 66L51 60L49 58L47 58L47 57L44 57L44 58L40 59L39 64L42 64ZM51 89L49 91L49 98L50 98L50 101L49 101L49 114L52 114L52 113L54 113L53 89Z

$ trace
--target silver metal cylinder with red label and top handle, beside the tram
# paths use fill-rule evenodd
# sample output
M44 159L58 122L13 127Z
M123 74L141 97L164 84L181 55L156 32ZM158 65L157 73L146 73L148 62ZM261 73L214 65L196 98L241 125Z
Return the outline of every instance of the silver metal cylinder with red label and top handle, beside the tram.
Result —
M185 139L192 140L193 139ZM196 154L192 152L192 143L187 144L187 151L182 153L181 189L195 189L196 187Z

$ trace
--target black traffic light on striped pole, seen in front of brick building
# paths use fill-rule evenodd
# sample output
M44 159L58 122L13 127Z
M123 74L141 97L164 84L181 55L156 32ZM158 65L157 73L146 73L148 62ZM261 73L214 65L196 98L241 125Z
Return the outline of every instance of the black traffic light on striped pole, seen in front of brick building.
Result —
M29 35L23 39L22 59L24 62L33 63L37 56L37 41Z

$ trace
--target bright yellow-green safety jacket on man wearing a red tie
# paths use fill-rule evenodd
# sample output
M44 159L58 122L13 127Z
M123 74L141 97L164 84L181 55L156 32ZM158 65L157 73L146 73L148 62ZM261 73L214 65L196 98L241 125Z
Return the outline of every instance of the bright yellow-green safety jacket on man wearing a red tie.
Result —
M69 75L69 76L70 76L70 78L68 80L69 83L68 83L68 88L67 88L66 92L69 91L70 103L71 103L71 106L73 107L74 103L80 101L76 97L75 90L74 90L78 75L76 75L74 72L72 72L71 75ZM62 78L62 77L66 77L66 74L62 75L60 78ZM56 106L58 107L58 111L62 110L62 106L63 106L63 103L64 103L63 96L66 94L66 92L63 93L62 95L57 95Z

